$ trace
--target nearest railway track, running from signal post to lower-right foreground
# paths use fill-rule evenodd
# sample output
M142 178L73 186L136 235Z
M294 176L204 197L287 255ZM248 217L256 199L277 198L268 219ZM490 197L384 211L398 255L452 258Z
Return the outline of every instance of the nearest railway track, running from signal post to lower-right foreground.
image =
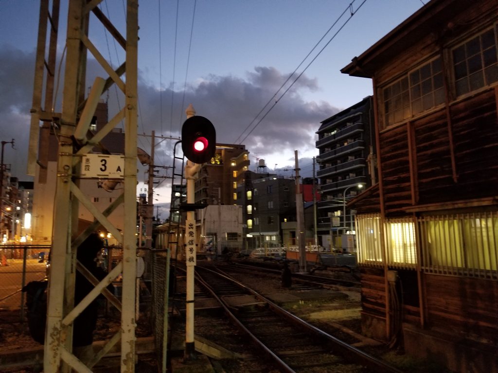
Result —
M197 266L196 280L280 372L401 372L283 310L220 270Z

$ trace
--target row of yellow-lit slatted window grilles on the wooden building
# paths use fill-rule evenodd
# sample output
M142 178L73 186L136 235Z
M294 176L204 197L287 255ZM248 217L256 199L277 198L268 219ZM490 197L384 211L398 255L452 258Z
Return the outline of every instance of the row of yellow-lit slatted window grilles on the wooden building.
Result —
M414 269L420 260L426 273L498 279L498 211L423 216L416 225L410 217L386 219L384 249L380 215L357 215L356 224L362 266Z

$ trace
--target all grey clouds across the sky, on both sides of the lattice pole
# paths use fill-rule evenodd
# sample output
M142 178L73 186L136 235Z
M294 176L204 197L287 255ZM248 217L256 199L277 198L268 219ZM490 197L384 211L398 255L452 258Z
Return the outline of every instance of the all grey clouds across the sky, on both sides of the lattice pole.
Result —
M19 171L21 175L25 172L27 161L34 61L34 51L25 53L10 46L0 48L0 135L2 141L15 138L18 148L15 163L22 170ZM87 68L89 88L96 76L106 77L95 60L90 59ZM60 76L62 81L63 67ZM242 142L254 157L267 158L270 167L276 163L273 161L276 156L293 164L294 150L299 151L300 157L305 153L309 157L309 153L315 150L315 132L320 121L338 112L338 109L326 102L307 101L304 98L307 92L319 90L317 80L306 75L301 76L282 98L282 91L275 95L288 77L288 73L279 72L273 67L259 66L245 77L209 75L189 83L185 91L183 84L176 84L175 87L171 85L160 91L139 76L138 133L150 135L155 130L158 136L178 138L186 118L185 108L192 103L197 115L213 122L218 142ZM293 79L295 76L284 89ZM59 97L62 90L61 83ZM124 94L114 86L103 98L109 100L110 116L124 106ZM278 103L267 113L277 99ZM257 116L268 101L269 105ZM56 111L60 110L60 106L61 98L58 98ZM264 114L266 116L261 120ZM156 159L164 165L171 164L173 143L163 141L156 148ZM139 138L138 146L146 151L150 150L148 144L149 138ZM13 156L8 155L11 160L14 160ZM9 161L7 156L6 161ZM251 162L255 164L254 159Z

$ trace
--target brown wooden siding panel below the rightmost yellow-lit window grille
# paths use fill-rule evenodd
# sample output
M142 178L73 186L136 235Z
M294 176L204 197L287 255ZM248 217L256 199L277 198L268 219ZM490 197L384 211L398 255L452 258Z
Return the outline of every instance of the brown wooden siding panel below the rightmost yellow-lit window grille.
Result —
M428 326L498 342L498 282L424 275Z

